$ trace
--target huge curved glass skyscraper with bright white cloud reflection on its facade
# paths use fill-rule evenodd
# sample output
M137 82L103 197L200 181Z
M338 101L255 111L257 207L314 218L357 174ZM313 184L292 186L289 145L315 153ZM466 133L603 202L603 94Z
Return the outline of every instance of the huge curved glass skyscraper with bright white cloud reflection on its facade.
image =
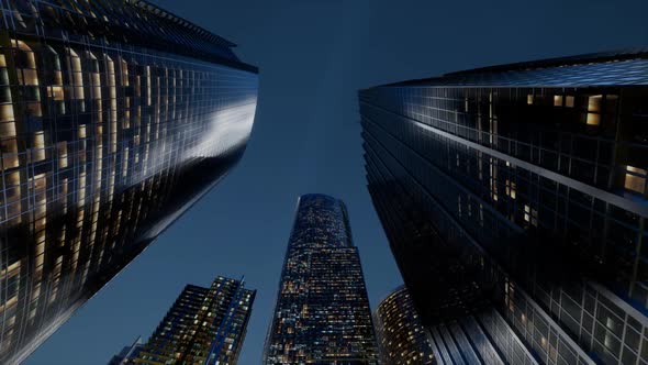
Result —
M0 363L24 360L241 158L257 70L146 1L0 3Z

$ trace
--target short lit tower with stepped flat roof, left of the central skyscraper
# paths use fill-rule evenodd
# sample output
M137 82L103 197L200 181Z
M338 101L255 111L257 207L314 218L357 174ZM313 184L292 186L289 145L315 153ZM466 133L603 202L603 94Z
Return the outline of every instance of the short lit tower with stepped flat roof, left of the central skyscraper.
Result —
M148 342L118 364L236 364L255 295L222 276L209 288L188 285Z

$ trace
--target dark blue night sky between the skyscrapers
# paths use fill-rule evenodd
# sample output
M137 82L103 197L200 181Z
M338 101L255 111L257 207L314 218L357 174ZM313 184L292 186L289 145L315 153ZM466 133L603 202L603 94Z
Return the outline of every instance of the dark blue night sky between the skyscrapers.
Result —
M182 287L258 289L241 364L258 364L297 198L343 199L372 306L401 284L366 189L357 90L477 66L648 45L648 1L159 0L260 68L238 167L64 324L30 365L105 364Z

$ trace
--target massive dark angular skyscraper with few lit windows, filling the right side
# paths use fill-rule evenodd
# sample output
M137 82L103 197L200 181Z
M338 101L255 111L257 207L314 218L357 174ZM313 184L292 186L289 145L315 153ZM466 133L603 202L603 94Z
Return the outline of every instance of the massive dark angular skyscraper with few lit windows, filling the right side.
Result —
M646 49L359 98L369 190L439 363L648 363Z

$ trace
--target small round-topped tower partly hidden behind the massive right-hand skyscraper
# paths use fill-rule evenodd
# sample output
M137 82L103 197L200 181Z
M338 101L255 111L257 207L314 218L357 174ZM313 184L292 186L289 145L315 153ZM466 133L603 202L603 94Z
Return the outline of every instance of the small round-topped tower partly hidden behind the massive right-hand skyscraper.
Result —
M396 288L373 312L381 364L436 364L429 333L423 327L407 288Z

